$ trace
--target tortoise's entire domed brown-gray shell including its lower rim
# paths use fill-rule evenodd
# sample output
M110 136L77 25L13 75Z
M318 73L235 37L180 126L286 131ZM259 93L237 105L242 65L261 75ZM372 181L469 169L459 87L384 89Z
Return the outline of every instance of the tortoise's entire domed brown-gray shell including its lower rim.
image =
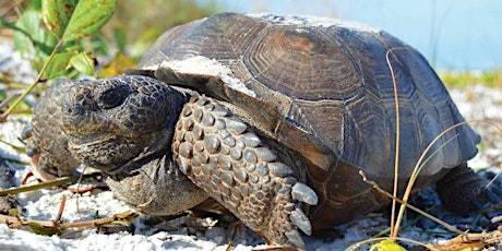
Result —
M243 88L182 70L176 77L183 81L174 81L164 65L194 57L215 60ZM308 184L321 199L310 213L314 228L385 205L359 170L391 190L398 147L404 187L429 144L465 121L417 50L383 31L332 19L217 14L165 33L134 73L142 71L234 104L261 133L303 156ZM416 188L474 157L479 141L466 124L447 131L426 153Z

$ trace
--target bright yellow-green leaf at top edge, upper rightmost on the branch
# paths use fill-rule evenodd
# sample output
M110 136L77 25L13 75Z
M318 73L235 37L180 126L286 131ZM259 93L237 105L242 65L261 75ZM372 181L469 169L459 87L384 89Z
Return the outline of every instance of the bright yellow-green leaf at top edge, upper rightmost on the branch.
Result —
M62 35L64 41L77 40L97 31L108 22L117 8L117 0L79 1Z

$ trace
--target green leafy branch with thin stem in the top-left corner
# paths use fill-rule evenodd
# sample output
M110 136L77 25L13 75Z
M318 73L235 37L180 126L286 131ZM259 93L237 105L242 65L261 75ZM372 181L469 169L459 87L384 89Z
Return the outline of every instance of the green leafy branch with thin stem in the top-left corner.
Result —
M116 8L117 0L41 0L41 10L25 11L15 25L2 20L1 26L14 31L16 48L38 59L33 60L33 67L39 73L0 120L4 121L43 80L58 77L68 71L93 75L94 59L79 40L97 33Z

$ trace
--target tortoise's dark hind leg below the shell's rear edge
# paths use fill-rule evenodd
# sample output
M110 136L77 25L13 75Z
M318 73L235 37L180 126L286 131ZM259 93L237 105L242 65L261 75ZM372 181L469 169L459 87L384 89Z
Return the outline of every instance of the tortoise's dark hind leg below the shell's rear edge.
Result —
M437 183L438 194L444 207L461 215L481 210L483 202L501 203L498 188L487 188L488 181L475 174L467 164L459 165L447 172ZM498 198L499 196L499 198Z

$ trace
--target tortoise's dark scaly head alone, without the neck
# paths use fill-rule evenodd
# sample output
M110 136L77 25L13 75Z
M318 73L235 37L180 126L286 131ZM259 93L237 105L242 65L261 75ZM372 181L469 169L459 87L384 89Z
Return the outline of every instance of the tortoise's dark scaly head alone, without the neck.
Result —
M167 84L120 75L61 91L69 148L85 165L116 175L170 153L186 97Z

